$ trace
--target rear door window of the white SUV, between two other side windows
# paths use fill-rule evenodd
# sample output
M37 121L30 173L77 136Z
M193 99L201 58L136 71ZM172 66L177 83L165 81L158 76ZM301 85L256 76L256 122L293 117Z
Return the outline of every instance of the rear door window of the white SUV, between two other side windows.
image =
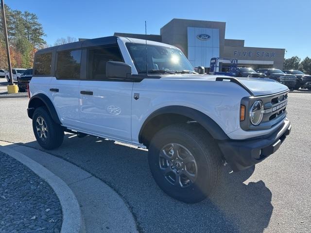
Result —
M81 50L57 52L57 79L80 79Z

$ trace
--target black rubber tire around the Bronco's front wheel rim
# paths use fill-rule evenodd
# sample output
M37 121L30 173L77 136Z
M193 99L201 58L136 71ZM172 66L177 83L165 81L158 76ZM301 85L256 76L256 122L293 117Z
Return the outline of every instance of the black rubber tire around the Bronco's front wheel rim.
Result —
M165 169L163 169L163 167L161 169L160 167L163 165L163 158L160 156L160 151L163 147L165 148L165 145L171 143L173 143L173 145L174 143L182 145L195 159L197 168L196 179L194 182L186 183L188 185L183 187L180 185L182 179L178 179L179 185L175 182L174 185L171 182L172 177L174 174L176 175L177 171L169 171L169 173L167 173L169 175L164 175L163 170ZM171 150L169 152L172 152ZM164 153L162 153L162 155L163 154ZM188 154L187 151L186 154ZM157 132L150 143L148 160L151 173L159 187L174 199L186 203L199 202L211 195L221 179L223 170L222 153L216 142L209 133L195 124L171 125ZM172 163L172 160L170 162L169 166L172 168L171 165L174 163ZM165 163L168 165L167 162L164 162L164 164ZM187 166L191 165L195 167L195 163L191 162L191 164L187 164ZM174 167L176 168L176 166ZM182 165L182 167L184 167L182 168L183 170L188 170L188 168L185 168L185 165ZM179 172L181 173L180 169Z

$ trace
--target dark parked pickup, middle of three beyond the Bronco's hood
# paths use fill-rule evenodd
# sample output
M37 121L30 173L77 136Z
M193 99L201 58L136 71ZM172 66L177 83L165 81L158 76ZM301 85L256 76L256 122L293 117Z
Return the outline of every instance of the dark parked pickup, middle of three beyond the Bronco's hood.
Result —
M296 76L293 74L285 74L280 69L257 69L257 73L264 73L267 78L276 80L279 83L282 83L290 89L294 89L296 86Z

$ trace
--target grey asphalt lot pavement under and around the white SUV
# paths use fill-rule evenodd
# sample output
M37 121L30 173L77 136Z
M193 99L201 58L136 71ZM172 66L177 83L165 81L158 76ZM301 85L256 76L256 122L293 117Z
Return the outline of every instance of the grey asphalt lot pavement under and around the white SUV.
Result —
M27 103L23 98L0 99L0 140L42 150ZM59 149L47 152L112 187L130 207L140 232L306 233L311 232L310 109L310 91L290 93L292 133L280 149L255 168L230 173L225 167L215 196L196 204L174 200L158 188L145 150L66 134Z

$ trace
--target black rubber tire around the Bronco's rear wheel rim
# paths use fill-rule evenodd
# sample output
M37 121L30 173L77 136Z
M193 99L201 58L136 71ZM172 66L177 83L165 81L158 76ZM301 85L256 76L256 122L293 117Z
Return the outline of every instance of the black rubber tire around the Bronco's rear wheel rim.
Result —
M44 120L45 124L43 124L43 128L47 129L46 131L43 130L46 136L42 137L40 137L39 134L41 134L40 132L43 131L38 131L39 133L37 132L37 127L40 128L40 124L37 124L37 120L40 121L40 119ZM58 148L63 143L64 130L59 124L56 124L53 121L52 117L50 116L48 110L45 107L38 107L35 109L33 116L33 130L37 142L44 149L52 150Z

